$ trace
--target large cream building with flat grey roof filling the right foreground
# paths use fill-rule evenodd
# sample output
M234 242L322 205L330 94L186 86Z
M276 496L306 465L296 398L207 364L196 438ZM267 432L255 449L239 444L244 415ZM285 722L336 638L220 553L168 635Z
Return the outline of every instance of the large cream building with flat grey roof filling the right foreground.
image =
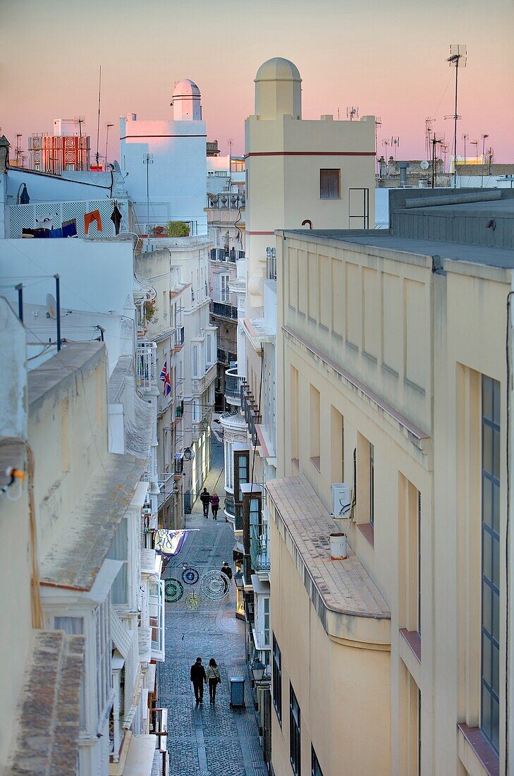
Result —
M388 231L278 233L281 776L510 772L514 199L460 194L392 192Z

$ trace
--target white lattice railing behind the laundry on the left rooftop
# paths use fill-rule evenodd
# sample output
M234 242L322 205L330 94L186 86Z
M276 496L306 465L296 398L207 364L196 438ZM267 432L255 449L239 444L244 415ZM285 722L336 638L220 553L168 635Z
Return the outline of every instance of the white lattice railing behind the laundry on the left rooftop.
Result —
M88 229L88 237L114 237L116 230L111 216L116 200L114 199L83 199L66 200L64 202L38 202L36 205L11 205L9 207L9 237L18 239L23 229L37 229L36 219L50 218L53 229L62 226L63 221L75 220L78 237L85 237L85 215L98 210L102 230L97 230L93 222ZM98 232L98 234L97 234Z

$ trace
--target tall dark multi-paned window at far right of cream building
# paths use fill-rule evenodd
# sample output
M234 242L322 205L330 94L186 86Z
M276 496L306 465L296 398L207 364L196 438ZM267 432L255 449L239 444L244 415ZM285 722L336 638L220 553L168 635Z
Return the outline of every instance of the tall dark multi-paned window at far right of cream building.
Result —
M482 376L481 715L480 727L499 752L500 384Z

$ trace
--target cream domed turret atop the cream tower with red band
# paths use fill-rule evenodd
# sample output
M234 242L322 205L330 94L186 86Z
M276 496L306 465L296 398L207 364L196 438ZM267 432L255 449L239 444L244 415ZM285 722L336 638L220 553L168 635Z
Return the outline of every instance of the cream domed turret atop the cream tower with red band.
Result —
M271 120L302 118L302 78L288 59L274 57L260 65L255 76L255 114Z

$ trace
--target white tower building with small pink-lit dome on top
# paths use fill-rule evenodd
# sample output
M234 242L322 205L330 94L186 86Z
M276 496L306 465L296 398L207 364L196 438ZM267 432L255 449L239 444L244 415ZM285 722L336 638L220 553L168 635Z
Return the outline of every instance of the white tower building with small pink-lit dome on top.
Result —
M119 153L133 203L133 230L152 234L169 221L184 221L189 235L207 234L205 122L193 81L178 81L170 121L119 120Z

